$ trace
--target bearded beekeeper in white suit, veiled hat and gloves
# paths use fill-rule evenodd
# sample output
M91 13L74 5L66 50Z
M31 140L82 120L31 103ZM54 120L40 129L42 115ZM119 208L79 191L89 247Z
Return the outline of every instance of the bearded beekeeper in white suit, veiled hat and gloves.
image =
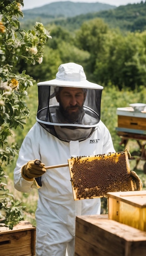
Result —
M115 152L100 120L103 87L86 80L83 67L60 65L56 78L38 83L37 122L25 137L14 170L15 189L39 188L36 256L74 256L75 216L100 214L100 198L74 200L71 156ZM40 165L34 163L41 161Z

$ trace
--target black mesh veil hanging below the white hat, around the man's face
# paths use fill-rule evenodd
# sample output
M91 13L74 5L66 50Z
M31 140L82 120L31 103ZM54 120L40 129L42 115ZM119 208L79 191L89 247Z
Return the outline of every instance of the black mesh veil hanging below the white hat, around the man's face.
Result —
M83 90L84 92L84 88ZM56 99L55 86L38 86L37 121L52 135L64 141L83 140L91 136L100 122L100 105L102 90L86 89L83 106L76 115L75 121L62 113Z

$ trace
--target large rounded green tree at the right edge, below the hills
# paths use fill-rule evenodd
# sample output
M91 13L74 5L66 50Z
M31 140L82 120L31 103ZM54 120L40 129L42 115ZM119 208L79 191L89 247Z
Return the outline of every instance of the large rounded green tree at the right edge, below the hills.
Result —
M146 81L146 31L142 33L106 34L105 54L96 58L94 76L100 82L135 90Z

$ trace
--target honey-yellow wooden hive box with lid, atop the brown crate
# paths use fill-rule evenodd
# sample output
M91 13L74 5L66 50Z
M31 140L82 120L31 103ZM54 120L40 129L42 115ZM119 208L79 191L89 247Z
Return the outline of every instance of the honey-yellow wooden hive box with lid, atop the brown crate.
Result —
M146 191L110 192L108 218L146 231Z

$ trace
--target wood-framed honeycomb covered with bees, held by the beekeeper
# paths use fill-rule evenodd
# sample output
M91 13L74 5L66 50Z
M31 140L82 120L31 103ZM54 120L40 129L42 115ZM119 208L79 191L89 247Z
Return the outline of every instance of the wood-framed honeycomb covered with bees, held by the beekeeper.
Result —
M127 151L68 159L74 200L134 190Z

